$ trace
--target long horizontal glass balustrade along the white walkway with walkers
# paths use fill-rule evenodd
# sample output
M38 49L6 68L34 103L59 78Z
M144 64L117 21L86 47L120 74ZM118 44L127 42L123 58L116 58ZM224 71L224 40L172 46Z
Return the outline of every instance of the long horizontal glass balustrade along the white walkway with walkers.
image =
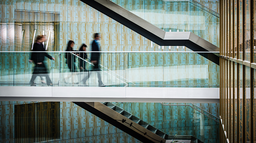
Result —
M47 75L52 86L99 86L100 75L104 85L115 87L219 87L219 66L196 52L100 52L95 69L93 52L83 59L79 53L51 51L55 60L44 57L47 75L30 63L31 53L0 52L0 86L47 86Z

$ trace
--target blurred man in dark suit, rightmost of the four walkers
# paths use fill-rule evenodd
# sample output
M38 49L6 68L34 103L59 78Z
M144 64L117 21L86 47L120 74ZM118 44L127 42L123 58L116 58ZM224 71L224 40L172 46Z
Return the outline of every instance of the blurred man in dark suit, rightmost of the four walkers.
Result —
M94 33L94 40L92 42L92 51L100 51L99 40L100 40L100 34L99 33ZM99 67L100 66L100 52L92 52L91 53L91 62L94 64L93 71L96 71L97 74L98 74L99 86L105 86L102 83L101 76L100 76L100 67ZM89 78L89 75L82 80L82 82L84 84L86 83L86 80Z

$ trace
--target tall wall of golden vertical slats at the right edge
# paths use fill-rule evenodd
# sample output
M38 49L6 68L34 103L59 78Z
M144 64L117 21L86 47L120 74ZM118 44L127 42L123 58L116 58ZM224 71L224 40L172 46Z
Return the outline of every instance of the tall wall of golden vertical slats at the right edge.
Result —
M256 142L255 4L220 0L221 143Z

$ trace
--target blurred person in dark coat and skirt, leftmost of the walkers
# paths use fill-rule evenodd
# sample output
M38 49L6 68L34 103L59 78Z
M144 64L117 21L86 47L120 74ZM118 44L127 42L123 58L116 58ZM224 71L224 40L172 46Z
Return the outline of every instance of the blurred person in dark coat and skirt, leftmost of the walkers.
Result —
M44 35L37 36L37 39L36 39L36 42L33 46L32 51L45 51L44 45L43 45L44 41L45 41ZM37 75L45 76L47 85L52 86L50 77L48 75L48 71L47 71L47 69L44 65L44 57L48 57L50 59L55 60L54 57L51 57L46 52L32 52L31 53L31 58L30 58L29 62L33 61L35 63L33 75L32 75L31 80L30 80L31 86L36 86L34 81L35 81Z

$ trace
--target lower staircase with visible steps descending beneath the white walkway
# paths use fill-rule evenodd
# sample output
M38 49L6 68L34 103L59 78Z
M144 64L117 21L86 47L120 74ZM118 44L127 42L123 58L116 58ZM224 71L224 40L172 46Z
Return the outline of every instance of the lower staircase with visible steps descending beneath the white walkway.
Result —
M113 103L74 103L143 143L171 143L174 138L174 136L167 135ZM184 143L203 143L192 136L178 136L176 139L182 140Z

